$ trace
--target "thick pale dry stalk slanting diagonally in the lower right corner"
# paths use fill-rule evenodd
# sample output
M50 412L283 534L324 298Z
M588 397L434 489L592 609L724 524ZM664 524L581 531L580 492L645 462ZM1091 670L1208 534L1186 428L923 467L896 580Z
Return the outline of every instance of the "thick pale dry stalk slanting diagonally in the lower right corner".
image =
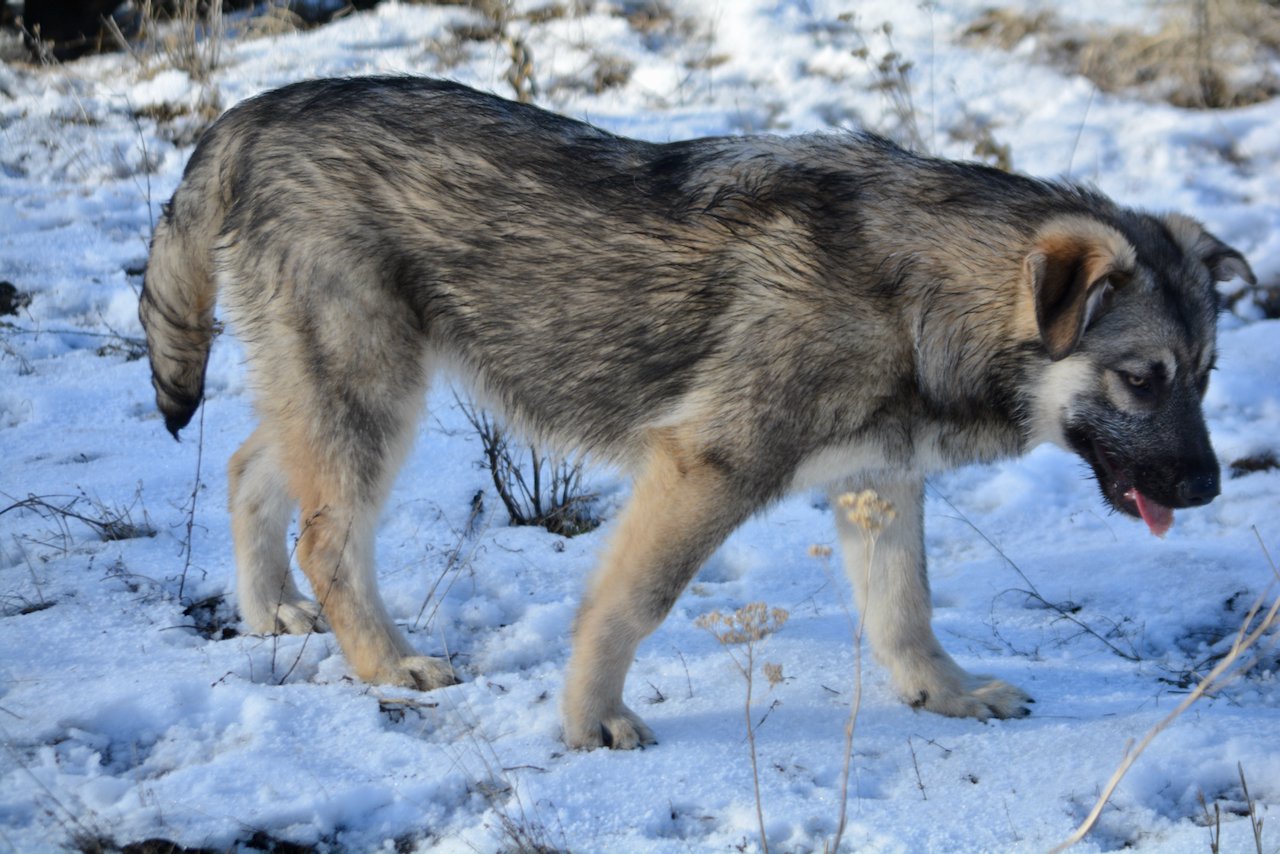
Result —
M1276 580L1280 580L1280 570L1276 570L1275 561L1271 560L1271 554L1267 552L1266 545L1262 543L1262 536L1258 534L1257 529L1253 529L1253 534L1254 536L1258 538L1258 544L1262 547L1262 553L1266 556L1267 563L1270 563L1271 566L1271 574L1276 576ZM1102 794L1098 796L1097 803L1093 804L1093 809L1089 810L1089 814L1084 818L1083 822L1080 822L1080 826L1075 828L1075 832L1071 834L1064 842L1060 842L1059 845L1053 846L1050 850L1050 854L1057 854L1057 851L1065 851L1066 849L1071 848L1082 839L1084 839L1088 835L1088 832L1093 830L1093 826L1097 823L1098 817L1102 814L1102 808L1107 805L1108 800L1111 800L1111 795L1115 793L1116 786L1120 785L1120 780L1124 778L1125 773L1128 773L1133 763L1138 761L1138 757L1140 757L1142 752L1147 749L1147 745L1149 745L1156 739L1157 735L1164 732L1169 727L1169 725L1171 725L1175 720L1178 720L1179 714L1190 708L1192 704L1196 703L1196 700L1198 700L1204 694L1212 690L1219 690L1225 688L1231 681L1244 675L1254 665L1258 663L1261 653L1256 653L1251 659L1243 661L1243 663L1242 663L1242 657L1247 652L1254 649L1258 645L1258 641L1266 638L1272 629L1280 625L1280 598L1272 600L1271 607L1268 607L1266 611L1262 611L1262 606L1266 602L1267 594L1271 593L1274 585L1275 585L1274 581L1268 584L1266 589L1263 589L1262 593L1258 595L1258 598L1254 599L1253 606L1249 608L1249 612L1244 615L1244 621L1240 624L1240 629L1235 632L1235 640L1231 643L1231 649L1226 653L1226 656L1222 657L1221 661L1217 662L1213 670L1211 670L1208 675L1204 676L1204 679L1202 679L1194 689L1192 689L1192 691L1183 699L1181 703L1178 704L1178 707L1172 712L1166 714L1158 723L1156 723L1147 731L1147 735L1142 737L1142 741L1138 743L1137 748L1132 748L1130 743L1132 749L1130 748L1125 749L1124 759L1120 762L1119 767L1116 767L1115 773L1111 775L1111 778L1107 781L1107 785L1102 789ZM1254 620L1257 620L1256 624ZM1249 626L1253 627L1251 629ZM1243 782L1244 777L1243 769L1240 772L1240 777ZM1247 787L1245 787L1245 796L1248 796ZM1254 836L1261 837L1261 830L1262 830L1261 823L1254 825ZM1261 850L1261 842L1260 842L1260 850Z

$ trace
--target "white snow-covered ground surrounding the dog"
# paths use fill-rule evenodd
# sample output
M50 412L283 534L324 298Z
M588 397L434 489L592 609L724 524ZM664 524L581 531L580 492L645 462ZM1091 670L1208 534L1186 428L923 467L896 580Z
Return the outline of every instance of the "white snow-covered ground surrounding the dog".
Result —
M1280 102L1194 111L1097 92L1039 63L1036 37L1007 52L963 44L988 4L682 0L663 4L669 19L628 19L658 4L614 0L508 32L531 51L539 104L659 141L902 133L902 91L872 85L892 47L913 63L909 108L937 152L974 156L986 127L1016 169L1192 214L1276 280ZM1071 14L1130 24L1149 10L1098 0ZM694 625L753 600L790 611L760 649L785 679L758 681L751 711L769 848L831 841L854 648L847 585L809 553L835 540L813 495L745 525L641 647L627 702L659 737L643 752L572 753L558 737L570 622L608 525L575 539L508 526L443 385L381 520L379 566L413 644L449 654L465 681L365 685L330 635L246 635L234 617L224 465L252 423L241 351L219 339L200 426L177 444L137 346L147 239L197 108L332 74L444 74L511 95L508 47L451 35L481 22L388 3L232 37L209 87L159 58L0 67L0 280L31 296L0 318L0 848L759 850L745 682ZM630 73L600 88L600 69ZM1206 411L1224 465L1280 452L1280 321L1258 318L1243 305L1221 323ZM604 470L589 487L607 516L627 489ZM1271 580L1260 538L1280 554L1280 472L1225 476L1164 540L1108 515L1083 465L1051 448L938 478L929 495L940 636L1037 704L1010 722L915 713L868 665L841 850L1044 850ZM72 513L119 524L104 536ZM1221 807L1221 850L1254 850L1238 766L1265 850L1280 849L1275 648L1263 658L1152 744L1080 850L1206 851L1201 795Z

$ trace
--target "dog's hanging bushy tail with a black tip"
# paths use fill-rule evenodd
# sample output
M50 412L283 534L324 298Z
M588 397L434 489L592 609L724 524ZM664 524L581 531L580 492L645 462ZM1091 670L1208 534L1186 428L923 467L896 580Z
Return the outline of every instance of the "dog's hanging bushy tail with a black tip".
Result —
M214 131L218 128L215 127ZM223 160L210 132L192 155L182 184L151 237L138 319L147 334L151 384L164 424L178 438L205 394L205 367L214 341L214 242L229 193Z

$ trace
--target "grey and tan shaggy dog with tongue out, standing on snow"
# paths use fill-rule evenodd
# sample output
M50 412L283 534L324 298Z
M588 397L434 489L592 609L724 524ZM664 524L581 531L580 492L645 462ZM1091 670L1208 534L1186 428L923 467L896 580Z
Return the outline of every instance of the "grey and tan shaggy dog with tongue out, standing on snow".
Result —
M1215 283L1253 273L1180 214L910 154L868 133L618 137L463 86L312 81L204 136L160 219L140 314L177 438L215 297L260 425L232 457L241 613L332 626L360 679L456 681L388 616L374 529L429 379L460 376L539 442L634 475L579 609L572 748L653 732L622 702L637 644L718 544L783 494L874 489L874 566L837 513L899 694L1009 718L931 626L924 479L1051 442L1156 534L1219 494L1201 411ZM285 531L296 508L298 563Z

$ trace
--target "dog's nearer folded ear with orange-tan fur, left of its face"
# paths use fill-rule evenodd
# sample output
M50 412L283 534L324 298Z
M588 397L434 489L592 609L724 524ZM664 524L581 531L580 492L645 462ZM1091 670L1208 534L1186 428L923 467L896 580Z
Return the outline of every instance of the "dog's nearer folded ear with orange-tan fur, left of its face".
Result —
M1024 274L1050 359L1071 355L1111 293L1133 278L1135 256L1120 232L1087 216L1062 216L1041 228Z

